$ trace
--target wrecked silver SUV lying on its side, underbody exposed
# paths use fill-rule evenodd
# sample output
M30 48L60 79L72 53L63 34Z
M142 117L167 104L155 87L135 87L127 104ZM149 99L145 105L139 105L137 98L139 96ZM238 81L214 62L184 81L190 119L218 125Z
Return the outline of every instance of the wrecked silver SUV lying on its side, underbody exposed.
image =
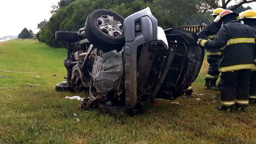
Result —
M176 99L200 71L204 49L194 32L163 30L149 8L126 19L96 10L78 32L57 31L67 42L67 83L58 91L88 92L84 107L124 114L144 101Z

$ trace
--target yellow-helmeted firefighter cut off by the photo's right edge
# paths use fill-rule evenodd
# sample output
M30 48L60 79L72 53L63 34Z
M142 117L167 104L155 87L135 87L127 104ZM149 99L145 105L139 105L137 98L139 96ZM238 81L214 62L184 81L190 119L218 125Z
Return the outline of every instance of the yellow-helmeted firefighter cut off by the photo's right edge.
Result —
M248 26L250 26L256 34L256 11L252 9L248 9L244 12L241 12L239 14L240 21ZM256 52L256 51L255 51ZM255 55L254 55L255 56ZM254 58L254 63L256 64L256 59ZM256 69L252 70L251 72L251 81L249 85L249 94L250 94L250 100L255 101L256 100Z

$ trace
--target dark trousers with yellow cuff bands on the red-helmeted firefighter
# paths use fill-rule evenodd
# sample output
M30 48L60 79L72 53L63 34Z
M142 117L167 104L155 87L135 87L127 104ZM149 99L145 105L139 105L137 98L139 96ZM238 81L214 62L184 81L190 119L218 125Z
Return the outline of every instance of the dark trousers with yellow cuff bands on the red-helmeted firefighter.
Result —
M222 72L219 87L223 108L247 107L251 69Z

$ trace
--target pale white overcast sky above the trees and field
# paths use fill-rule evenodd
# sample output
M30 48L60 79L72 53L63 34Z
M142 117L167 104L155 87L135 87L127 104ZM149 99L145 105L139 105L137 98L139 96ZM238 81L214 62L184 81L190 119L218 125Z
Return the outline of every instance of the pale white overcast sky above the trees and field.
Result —
M0 37L18 35L23 28L35 29L51 17L51 5L60 0L0 0ZM111 1L111 0L110 0ZM232 0L230 4L235 4ZM229 5L230 5L229 4ZM247 6L247 5L244 5ZM256 2L250 4L256 9Z

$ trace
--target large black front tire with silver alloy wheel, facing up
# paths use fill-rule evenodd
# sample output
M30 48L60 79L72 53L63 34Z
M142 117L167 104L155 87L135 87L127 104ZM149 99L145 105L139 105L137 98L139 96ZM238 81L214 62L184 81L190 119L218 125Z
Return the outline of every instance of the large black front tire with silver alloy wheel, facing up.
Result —
M86 37L104 52L120 51L125 44L123 21L124 18L116 12L106 9L93 11L84 25Z

